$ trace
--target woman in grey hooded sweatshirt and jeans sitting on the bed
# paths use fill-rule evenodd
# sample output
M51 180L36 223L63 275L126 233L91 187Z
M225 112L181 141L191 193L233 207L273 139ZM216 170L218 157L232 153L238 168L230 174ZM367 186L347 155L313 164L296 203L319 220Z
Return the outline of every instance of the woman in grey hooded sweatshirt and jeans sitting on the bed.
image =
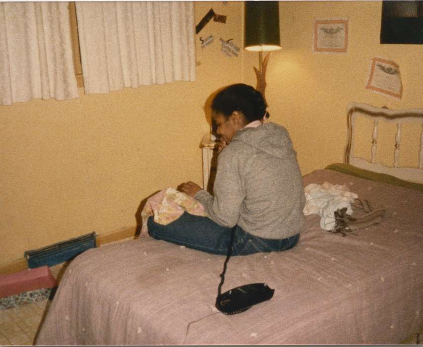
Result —
M212 102L219 136L214 196L193 182L178 190L200 201L210 218L184 213L160 225L148 219L157 239L214 254L227 254L235 227L233 255L283 251L296 245L303 225L302 176L288 131L268 116L262 95L234 84Z

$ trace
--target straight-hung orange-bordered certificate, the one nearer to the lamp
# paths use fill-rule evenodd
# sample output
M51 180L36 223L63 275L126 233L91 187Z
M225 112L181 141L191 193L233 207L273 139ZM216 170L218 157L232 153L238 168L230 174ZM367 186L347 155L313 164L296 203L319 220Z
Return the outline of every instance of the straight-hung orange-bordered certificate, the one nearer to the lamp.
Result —
M345 53L348 49L348 19L314 21L314 53Z

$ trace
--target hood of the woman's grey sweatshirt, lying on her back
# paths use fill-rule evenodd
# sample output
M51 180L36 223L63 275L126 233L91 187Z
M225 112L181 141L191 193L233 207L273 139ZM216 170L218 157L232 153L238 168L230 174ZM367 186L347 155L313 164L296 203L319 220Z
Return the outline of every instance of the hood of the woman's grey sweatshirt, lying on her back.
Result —
M263 123L255 128L239 130L232 142L241 141L277 158L295 156L287 129L276 123Z

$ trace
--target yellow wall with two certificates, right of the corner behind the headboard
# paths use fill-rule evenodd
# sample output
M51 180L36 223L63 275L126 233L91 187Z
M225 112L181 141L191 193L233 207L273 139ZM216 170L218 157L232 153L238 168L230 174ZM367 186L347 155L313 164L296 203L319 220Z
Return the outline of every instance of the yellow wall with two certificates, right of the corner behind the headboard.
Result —
M423 108L422 45L381 45L381 8L381 1L279 3L282 50L272 53L269 60L266 99L271 119L291 134L302 174L343 161L348 103L393 110ZM314 20L331 18L349 19L348 53L313 54ZM246 52L244 57L245 83L255 85L251 66L257 66L257 55ZM374 57L399 64L402 99L364 88ZM369 136L371 140L371 129ZM408 154L402 153L401 163L408 163L404 158ZM413 163L417 166L418 161ZM387 164L392 165L392 159Z

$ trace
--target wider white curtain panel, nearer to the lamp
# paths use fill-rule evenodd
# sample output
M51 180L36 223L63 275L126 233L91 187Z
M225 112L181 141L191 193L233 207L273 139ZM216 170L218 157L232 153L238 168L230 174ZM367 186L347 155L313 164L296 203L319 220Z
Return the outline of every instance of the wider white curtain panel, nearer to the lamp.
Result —
M76 2L86 94L195 80L190 1Z

